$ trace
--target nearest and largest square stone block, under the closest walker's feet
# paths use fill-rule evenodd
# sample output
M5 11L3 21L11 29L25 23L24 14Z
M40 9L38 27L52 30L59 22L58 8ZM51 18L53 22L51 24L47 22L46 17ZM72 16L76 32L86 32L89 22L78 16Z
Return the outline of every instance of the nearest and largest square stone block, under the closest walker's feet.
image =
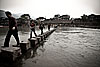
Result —
M20 47L4 47L1 48L1 60L7 62L13 62L16 60L17 57L21 56L21 49Z

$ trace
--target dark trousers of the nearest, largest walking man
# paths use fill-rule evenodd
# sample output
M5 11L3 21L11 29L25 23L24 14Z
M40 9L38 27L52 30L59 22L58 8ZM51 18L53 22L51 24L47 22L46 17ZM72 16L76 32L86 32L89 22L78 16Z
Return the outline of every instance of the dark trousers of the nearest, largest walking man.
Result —
M18 32L16 30L9 30L7 36L5 38L4 47L9 47L10 37L13 35L17 41L17 45L19 45L19 37Z

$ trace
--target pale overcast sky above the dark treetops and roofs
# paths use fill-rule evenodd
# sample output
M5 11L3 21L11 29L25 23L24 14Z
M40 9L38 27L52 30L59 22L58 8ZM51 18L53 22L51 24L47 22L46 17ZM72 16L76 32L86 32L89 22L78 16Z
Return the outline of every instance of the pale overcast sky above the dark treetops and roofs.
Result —
M28 13L31 17L52 18L55 14L80 17L100 14L100 0L0 0L0 10Z

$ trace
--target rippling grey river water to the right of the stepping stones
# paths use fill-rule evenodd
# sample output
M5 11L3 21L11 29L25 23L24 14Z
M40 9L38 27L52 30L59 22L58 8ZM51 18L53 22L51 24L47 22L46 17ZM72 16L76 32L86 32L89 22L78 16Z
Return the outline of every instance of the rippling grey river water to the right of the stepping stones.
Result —
M100 29L59 27L33 53L17 67L100 67Z

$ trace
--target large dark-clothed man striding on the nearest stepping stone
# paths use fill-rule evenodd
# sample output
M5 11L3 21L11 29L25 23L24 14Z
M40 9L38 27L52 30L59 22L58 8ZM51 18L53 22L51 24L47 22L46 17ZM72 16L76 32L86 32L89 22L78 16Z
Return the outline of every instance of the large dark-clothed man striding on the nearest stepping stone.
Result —
M10 41L11 35L13 35L17 41L16 46L19 46L19 37L18 37L16 20L14 17L12 17L12 14L9 11L5 12L5 14L9 19L9 31L8 31L7 36L5 38L4 47L9 47L9 41Z

